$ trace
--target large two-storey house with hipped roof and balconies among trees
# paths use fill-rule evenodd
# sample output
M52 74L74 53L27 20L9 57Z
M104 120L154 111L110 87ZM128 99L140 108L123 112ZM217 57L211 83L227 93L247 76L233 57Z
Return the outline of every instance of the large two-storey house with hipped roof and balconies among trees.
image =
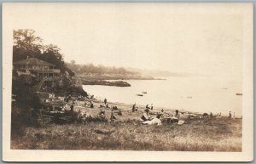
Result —
M13 63L13 69L21 72L31 72L40 77L58 77L61 75L60 69L55 65L37 58L27 58Z

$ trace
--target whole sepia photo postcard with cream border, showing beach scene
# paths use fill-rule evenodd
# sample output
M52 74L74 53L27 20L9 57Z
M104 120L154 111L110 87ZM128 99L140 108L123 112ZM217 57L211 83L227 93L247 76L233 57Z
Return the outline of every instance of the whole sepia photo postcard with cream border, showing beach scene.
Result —
M253 158L252 3L5 3L4 23L6 147L21 161L22 150Z

